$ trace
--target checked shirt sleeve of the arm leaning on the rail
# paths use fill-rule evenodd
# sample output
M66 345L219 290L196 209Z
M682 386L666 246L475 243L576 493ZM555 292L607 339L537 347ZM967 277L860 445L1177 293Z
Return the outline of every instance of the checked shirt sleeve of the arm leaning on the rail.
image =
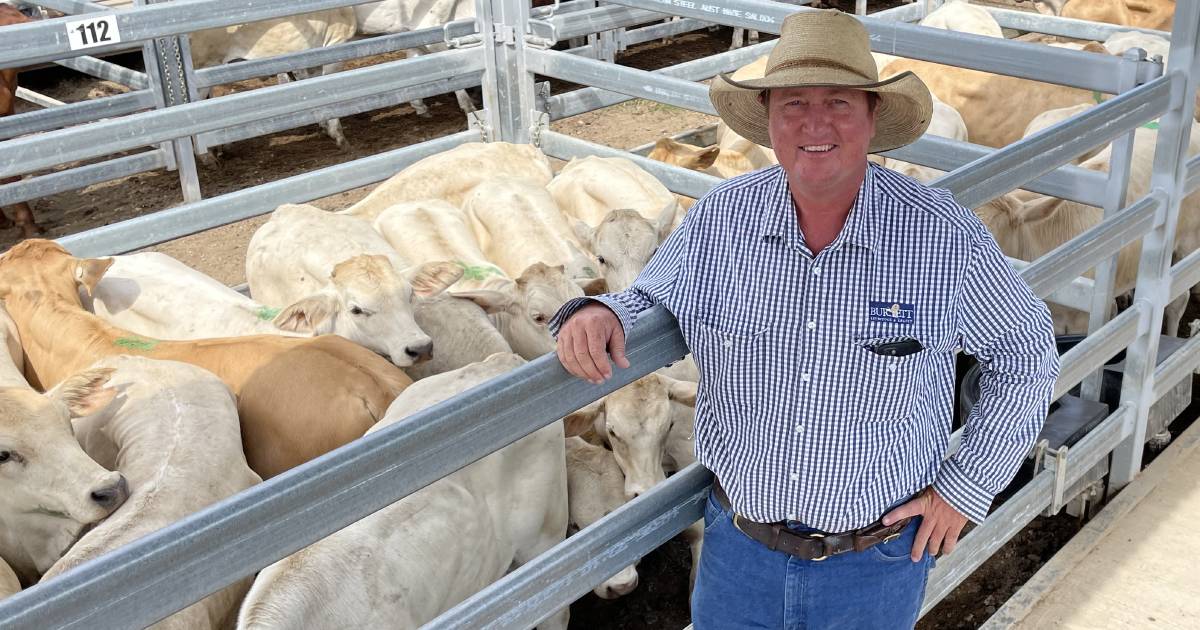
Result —
M628 289L568 301L551 318L550 332L558 337L559 329L576 311L595 301L604 304L617 314L620 328L624 329L628 337L641 312L656 304L666 304L674 293L676 281L686 257L691 230L695 229L692 227L696 222L695 217L701 212L702 204L703 202L697 202L688 211L679 227L662 241L662 245L659 246L659 250L650 257L649 263Z

